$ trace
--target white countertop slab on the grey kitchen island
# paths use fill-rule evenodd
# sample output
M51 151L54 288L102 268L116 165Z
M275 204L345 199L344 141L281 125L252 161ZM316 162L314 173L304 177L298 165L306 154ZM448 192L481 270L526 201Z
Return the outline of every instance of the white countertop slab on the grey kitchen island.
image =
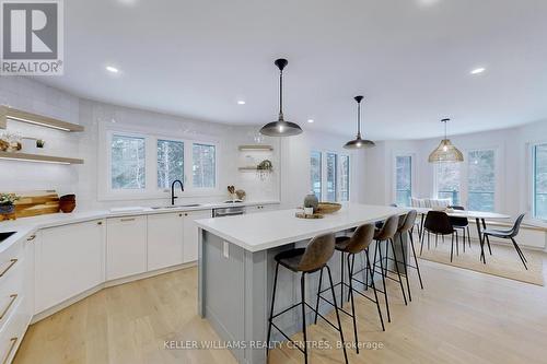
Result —
M295 218L296 211L299 210L279 210L222 219L203 219L196 223L199 227L255 253L406 212L404 209L392 207L348 204L336 213L325 215L324 219L306 220Z

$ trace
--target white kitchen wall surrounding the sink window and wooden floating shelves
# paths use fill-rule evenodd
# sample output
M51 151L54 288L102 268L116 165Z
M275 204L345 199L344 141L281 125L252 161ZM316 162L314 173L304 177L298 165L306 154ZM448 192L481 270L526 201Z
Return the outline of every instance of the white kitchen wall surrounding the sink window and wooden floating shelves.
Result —
M225 186L235 185L247 191L249 200L281 200L283 207L292 208L302 203L310 190L310 151L344 151L345 138L305 131L292 138L261 138L260 142L274 146L274 152L264 155L274 163L274 173L260 180L256 173L242 173L245 155L237 145L254 144L258 127L236 127L222 124L190 120L141 109L81 99L62 91L46 86L25 78L2 78L0 80L0 104L27 111L43 114L80 124L82 133L67 133L54 129L33 127L23 122L9 121L8 130L24 136L46 140L45 152L51 155L82 157L83 165L54 165L0 161L0 191L25 191L55 189L60 195L77 193L78 209L106 209L124 206L156 206L168 201L163 198L149 200L104 200L97 186L104 175L102 155L98 150L104 126L120 129L138 129L176 136L179 138L205 138L219 143L219 192L207 197L187 197L183 202L221 201L228 198ZM0 131L2 132L2 131ZM261 158L260 154L255 155ZM350 198L358 201L361 189L363 163L358 156L351 157ZM179 200L181 201L181 200Z

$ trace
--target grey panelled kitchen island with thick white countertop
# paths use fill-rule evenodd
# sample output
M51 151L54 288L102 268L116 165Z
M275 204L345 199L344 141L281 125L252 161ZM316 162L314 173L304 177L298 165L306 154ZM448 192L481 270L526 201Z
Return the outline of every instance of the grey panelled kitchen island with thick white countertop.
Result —
M303 220L296 210L279 210L222 219L198 220L199 296L198 309L207 318L240 363L266 363L266 331L271 300L275 260L286 249L305 247L310 238L325 234L345 234L365 223L404 214L403 209L348 204L324 219ZM337 259L338 258L338 259ZM356 266L361 261L356 260ZM339 256L329 262L334 280L340 279ZM357 269L356 269L357 270ZM309 274L306 300L315 302L318 279ZM339 290L337 290L337 294ZM281 269L278 278L276 312L300 300L300 278ZM340 302L340 296L337 297ZM319 306L323 314L331 309ZM298 310L276 319L288 334L301 331ZM306 322L312 322L307 313ZM272 343L282 337L274 330Z

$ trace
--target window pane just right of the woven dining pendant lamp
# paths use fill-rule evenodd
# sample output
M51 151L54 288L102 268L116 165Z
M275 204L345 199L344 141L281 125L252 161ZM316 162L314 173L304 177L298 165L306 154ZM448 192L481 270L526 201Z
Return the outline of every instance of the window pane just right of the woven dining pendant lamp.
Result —
M467 154L467 209L493 211L496 201L496 153L493 150Z

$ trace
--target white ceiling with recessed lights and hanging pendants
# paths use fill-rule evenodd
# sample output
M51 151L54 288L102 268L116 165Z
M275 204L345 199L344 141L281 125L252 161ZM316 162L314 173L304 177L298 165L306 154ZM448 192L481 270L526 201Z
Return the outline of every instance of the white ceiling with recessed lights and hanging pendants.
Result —
M286 118L304 130L352 137L358 94L374 140L438 137L442 117L452 133L547 118L545 0L69 0L65 14L65 75L40 80L88 98L259 126L284 57Z

